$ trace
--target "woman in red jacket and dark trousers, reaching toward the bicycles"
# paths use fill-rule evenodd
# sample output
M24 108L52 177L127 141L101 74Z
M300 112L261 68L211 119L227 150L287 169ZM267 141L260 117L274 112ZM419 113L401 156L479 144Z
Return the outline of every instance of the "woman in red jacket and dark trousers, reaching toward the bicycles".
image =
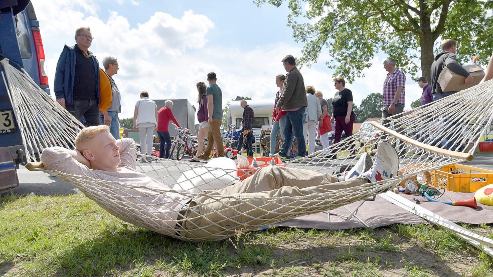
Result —
M166 100L165 106L160 108L157 112L157 135L159 136L159 158L170 158L171 137L168 129L170 120L173 120L175 124L180 127L177 119L173 115L173 101ZM166 143L166 154L165 152ZM165 155L163 155L165 154Z

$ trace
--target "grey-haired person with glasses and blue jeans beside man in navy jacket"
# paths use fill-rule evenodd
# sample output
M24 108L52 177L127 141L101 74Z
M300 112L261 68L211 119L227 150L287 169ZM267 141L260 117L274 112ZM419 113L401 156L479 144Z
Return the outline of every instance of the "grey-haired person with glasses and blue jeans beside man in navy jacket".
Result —
M118 122L118 113L120 113L120 91L113 80L113 75L118 73L118 61L115 57L109 56L103 59L104 72L109 77L111 89L113 91L113 101L106 111L100 115L101 124L109 126L110 134L115 138L120 138L120 123Z

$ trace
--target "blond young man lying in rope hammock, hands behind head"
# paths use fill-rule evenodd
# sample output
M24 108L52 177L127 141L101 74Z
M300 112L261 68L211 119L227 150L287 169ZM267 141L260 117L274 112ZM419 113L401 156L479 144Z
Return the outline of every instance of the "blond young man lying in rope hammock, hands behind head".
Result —
M191 197L190 194L171 191L159 193L159 190L168 190L168 187L136 171L134 141L130 138L115 140L108 126L82 129L75 145L75 151L62 147L44 149L41 155L44 167L67 174L116 181L108 187L104 182L98 183L101 187L96 191L111 194L108 195L109 199L122 203L121 207L116 207L118 209L138 209L134 212L137 217L142 217L142 221L145 218L152 221L152 224L143 224L146 227L189 240L218 240L234 234L235 230L254 229L294 215L321 211L323 205L335 202L334 198L321 197L324 192L351 189L391 178L397 175L399 165L395 149L381 140L375 163L372 165L368 154L362 155L354 168L342 178L344 180L310 170L262 167L251 177L234 185ZM129 189L128 186L119 185L123 183L139 187ZM107 189L106 192L104 189Z

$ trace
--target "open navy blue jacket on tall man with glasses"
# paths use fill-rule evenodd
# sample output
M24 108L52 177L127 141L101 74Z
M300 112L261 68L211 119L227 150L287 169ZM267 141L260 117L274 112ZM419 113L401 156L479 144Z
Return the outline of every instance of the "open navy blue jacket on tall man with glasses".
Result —
M74 79L75 79L75 46L63 47L62 54L58 59L57 69L55 71L55 84L53 90L56 98L65 98L65 105L73 105L74 102ZM96 57L91 56L94 63L94 71L96 72L96 95L99 104L99 63Z

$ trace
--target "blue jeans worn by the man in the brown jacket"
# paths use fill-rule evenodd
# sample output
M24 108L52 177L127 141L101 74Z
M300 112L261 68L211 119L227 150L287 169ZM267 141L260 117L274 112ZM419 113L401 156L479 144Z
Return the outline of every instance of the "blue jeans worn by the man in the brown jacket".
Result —
M293 134L296 137L298 143L298 156L306 156L306 144L303 137L303 114L306 107L301 107L297 111L290 111L286 114L286 123L284 125L284 143L282 149L279 151L279 155L283 157L288 156L289 148L293 143Z

